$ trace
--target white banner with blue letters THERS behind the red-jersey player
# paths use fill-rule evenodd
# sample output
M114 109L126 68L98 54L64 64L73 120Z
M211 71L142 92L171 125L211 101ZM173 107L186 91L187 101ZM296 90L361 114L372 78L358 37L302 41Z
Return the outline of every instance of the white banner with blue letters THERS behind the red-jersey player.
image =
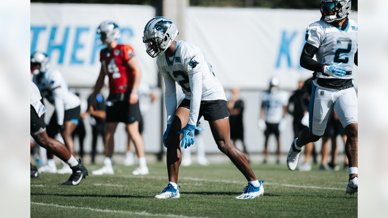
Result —
M144 26L154 16L151 6L31 3L31 53L46 52L69 86L93 87L104 48L96 42L96 30L102 21L114 21L121 28L119 43L133 47L142 80L154 86L157 67L142 42Z

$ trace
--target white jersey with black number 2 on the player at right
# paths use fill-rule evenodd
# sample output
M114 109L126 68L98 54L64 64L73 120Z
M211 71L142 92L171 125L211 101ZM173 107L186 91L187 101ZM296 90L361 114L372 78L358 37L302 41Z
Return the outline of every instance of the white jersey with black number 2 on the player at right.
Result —
M354 54L358 46L358 24L349 19L345 30L333 26L326 21L316 21L306 30L306 41L318 48L317 61L324 65L342 63L346 69L346 75L341 79L352 79L354 66ZM335 78L327 74L317 72L317 78Z

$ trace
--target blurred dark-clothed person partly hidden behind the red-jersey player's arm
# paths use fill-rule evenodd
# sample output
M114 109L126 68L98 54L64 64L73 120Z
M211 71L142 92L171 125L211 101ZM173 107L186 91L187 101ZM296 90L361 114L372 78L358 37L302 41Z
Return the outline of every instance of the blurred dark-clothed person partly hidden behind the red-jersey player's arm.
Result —
M92 125L92 164L95 163L97 137L101 135L102 141L105 142L105 101L104 97L98 93L95 96L95 107L90 105L93 94L88 97L88 112L90 114L90 125Z

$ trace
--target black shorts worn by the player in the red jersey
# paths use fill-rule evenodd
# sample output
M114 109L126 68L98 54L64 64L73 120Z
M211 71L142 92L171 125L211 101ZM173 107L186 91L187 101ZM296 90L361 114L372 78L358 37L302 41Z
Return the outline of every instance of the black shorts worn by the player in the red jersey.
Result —
M106 100L106 123L125 124L142 121L139 101L136 104L129 104L130 92L110 94Z

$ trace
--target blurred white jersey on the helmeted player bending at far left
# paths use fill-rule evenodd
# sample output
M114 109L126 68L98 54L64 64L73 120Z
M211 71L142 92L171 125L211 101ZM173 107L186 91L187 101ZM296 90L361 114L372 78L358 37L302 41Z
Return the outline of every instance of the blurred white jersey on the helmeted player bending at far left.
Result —
M51 104L55 104L54 90L59 92L63 100L64 110L73 109L81 104L80 99L70 91L68 84L58 70L47 69L41 80L38 80L38 75L35 75L32 81L39 88L42 97L46 98Z

